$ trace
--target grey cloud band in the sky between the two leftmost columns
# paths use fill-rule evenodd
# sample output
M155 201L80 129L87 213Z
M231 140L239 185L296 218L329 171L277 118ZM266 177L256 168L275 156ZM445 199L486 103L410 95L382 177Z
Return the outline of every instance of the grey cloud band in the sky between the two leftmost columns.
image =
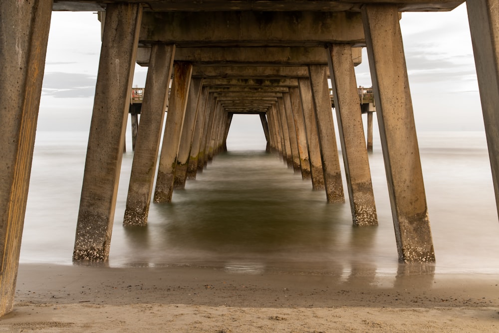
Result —
M42 94L55 98L93 97L96 80L94 75L82 73L45 73Z

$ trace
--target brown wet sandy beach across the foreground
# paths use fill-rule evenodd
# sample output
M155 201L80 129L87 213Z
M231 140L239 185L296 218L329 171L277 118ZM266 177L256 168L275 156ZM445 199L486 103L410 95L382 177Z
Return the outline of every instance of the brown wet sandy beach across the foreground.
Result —
M399 273L21 264L0 332L499 332L497 277Z

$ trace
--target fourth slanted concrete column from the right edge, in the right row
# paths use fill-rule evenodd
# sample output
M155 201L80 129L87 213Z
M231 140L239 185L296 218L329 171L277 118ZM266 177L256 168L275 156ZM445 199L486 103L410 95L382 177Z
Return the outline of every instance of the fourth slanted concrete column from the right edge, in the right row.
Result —
M331 98L329 97L329 87L327 85L327 66L309 65L308 72L310 74L312 100L315 106L327 202L345 202L333 126Z

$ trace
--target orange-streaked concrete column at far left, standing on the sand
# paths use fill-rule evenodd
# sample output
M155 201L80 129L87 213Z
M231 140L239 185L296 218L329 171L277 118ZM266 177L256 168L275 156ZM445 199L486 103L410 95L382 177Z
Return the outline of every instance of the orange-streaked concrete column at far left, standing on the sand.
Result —
M1 1L0 317L12 311L52 1Z

